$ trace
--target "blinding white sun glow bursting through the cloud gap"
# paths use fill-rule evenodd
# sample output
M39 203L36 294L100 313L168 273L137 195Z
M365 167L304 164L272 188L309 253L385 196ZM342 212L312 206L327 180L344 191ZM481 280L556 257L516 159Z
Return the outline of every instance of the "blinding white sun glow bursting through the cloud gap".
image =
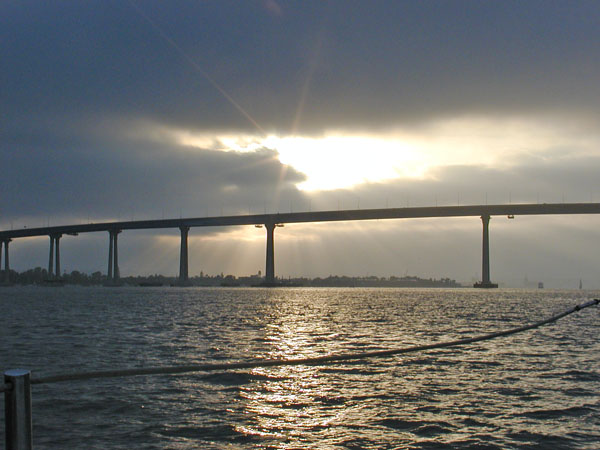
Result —
M305 191L351 188L398 177L418 177L424 167L413 149L399 140L363 136L270 136L264 141L279 160L306 175Z

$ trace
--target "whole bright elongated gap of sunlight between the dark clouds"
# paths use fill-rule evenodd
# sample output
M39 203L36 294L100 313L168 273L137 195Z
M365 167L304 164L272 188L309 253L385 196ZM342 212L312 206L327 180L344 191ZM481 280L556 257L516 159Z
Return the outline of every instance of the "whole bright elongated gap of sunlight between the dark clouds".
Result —
M279 161L306 175L306 192L352 189L364 183L434 178L447 166L510 168L520 161L594 154L599 138L559 118L460 117L413 129L378 133L344 130L322 136L219 133L177 130L179 145L240 153L273 150Z

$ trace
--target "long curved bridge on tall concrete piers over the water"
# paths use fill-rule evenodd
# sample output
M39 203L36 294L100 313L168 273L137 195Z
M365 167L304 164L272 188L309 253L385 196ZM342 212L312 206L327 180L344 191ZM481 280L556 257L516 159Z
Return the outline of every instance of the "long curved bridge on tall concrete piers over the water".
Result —
M489 222L492 216L520 215L566 215L600 214L600 203L543 203L509 205L465 205L407 207L383 209L353 209L341 211L312 211L277 214L249 214L239 216L196 217L180 219L137 220L123 222L90 223L81 225L61 225L40 228L22 228L0 231L0 268L2 266L2 247L4 247L4 280L9 279L9 243L14 239L49 236L50 252L48 274L51 278L60 277L60 239L63 235L77 236L80 233L108 232L108 271L109 283L117 284L120 278L118 235L126 230L144 230L156 228L179 228L181 246L179 254L179 282L188 283L188 232L192 227L216 227L254 225L264 226L267 231L265 285L275 286L275 228L287 223L342 222L354 220L414 219L434 217L480 217L483 226L482 239L482 279L475 287L497 287L490 279Z

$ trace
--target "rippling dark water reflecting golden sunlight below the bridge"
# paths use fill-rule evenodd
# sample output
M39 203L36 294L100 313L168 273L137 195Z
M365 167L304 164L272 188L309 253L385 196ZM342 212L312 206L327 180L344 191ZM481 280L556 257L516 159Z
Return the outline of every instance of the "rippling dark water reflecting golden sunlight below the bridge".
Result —
M387 349L507 329L598 294L5 288L0 368L44 376ZM35 385L34 447L597 449L598 314L366 362Z

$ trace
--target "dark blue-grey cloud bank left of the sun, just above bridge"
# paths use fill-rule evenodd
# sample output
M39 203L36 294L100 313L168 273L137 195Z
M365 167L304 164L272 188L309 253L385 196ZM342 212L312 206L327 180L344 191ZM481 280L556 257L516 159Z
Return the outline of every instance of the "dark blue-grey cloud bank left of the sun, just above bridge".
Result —
M272 209L277 195L298 198L304 176L272 150L186 148L85 135L6 136L0 164L5 220L41 215L91 220L247 213ZM17 151L9 151L18 149ZM31 224L29 224L31 225ZM39 225L39 224L36 224Z

